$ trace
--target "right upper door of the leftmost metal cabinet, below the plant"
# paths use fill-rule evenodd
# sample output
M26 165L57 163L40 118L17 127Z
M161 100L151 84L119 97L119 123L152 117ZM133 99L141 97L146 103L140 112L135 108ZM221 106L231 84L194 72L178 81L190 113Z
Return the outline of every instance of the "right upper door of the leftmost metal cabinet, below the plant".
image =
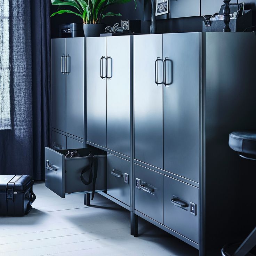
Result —
M84 131L84 58L85 38L66 39L67 129L66 132L83 138Z

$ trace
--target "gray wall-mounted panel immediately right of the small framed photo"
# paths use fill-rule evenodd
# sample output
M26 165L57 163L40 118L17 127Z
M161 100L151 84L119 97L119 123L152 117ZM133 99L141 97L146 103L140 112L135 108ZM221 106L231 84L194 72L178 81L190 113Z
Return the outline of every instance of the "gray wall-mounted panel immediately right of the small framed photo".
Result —
M200 0L178 0L169 3L170 18L200 16Z

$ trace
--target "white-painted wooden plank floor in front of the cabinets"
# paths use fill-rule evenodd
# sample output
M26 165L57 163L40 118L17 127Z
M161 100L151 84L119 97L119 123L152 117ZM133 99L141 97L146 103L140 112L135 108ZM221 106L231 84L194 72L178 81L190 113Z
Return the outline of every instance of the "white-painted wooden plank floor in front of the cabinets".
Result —
M198 256L198 250L139 218L140 236L130 235L130 213L99 194L83 205L83 194L62 199L36 183L37 199L23 217L0 217L4 256Z

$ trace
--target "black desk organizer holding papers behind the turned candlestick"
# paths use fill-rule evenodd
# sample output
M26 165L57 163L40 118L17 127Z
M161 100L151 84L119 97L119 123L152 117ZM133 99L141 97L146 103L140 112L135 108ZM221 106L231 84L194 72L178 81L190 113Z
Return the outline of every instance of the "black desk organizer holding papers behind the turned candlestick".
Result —
M224 22L221 21L208 21L210 26L206 26L203 21L203 32L223 32ZM252 12L251 10L245 10L245 13L237 18L231 19L229 23L230 32L243 32L252 24ZM247 32L251 32L250 29Z

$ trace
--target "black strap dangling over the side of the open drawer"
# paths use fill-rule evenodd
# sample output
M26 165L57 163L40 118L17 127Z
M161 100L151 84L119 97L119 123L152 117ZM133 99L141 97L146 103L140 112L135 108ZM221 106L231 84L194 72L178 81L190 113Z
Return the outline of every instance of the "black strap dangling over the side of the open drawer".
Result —
M93 200L94 194L95 194L96 179L97 179L97 175L98 175L98 156L97 155L93 156L93 155L89 154L87 156L87 158L89 159L89 165L87 165L81 171L80 179L81 179L82 183L85 185L89 185L89 184L93 183L93 188L92 188L93 193L91 195L91 200ZM93 171L93 165L94 165L94 171ZM83 174L86 173L87 171L90 171L88 181L86 181L86 179L83 177Z

